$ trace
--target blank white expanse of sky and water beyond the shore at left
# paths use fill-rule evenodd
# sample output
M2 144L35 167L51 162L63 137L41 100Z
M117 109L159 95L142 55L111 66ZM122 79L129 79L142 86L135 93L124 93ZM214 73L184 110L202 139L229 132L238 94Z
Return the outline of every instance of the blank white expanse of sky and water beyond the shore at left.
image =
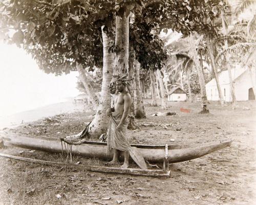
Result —
M45 74L23 49L0 42L0 117L77 96L77 76Z

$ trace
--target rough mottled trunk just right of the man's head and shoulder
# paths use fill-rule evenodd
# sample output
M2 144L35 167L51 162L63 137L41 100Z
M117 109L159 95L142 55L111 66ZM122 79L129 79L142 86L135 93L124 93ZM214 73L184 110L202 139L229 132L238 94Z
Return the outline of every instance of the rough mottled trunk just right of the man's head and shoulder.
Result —
M134 81L135 81L135 117L145 118L146 113L143 106L143 99L140 86L140 63L138 60L134 61Z

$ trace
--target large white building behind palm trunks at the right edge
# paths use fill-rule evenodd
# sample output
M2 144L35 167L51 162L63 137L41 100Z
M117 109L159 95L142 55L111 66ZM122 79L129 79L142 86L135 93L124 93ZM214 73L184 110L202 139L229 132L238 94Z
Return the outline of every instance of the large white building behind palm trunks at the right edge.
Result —
M234 81L234 95L237 101L255 100L255 91L253 90L256 83L255 69L232 69L231 74ZM219 81L224 100L231 102L228 71L219 73ZM207 100L219 100L215 78L208 82L205 88Z

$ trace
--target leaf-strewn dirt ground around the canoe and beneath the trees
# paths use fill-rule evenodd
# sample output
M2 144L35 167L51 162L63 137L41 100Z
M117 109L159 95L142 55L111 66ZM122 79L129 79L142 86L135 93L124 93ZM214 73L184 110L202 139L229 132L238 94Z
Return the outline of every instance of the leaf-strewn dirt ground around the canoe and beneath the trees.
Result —
M0 204L256 204L255 101L239 103L236 110L210 103L206 115L198 113L200 102L168 102L167 109L148 102L147 118L137 120L140 129L129 130L132 143L199 144L228 138L233 140L231 147L170 165L170 178L104 174L0 158ZM177 115L152 116L168 111ZM59 137L78 133L92 118L92 112L67 113L4 131ZM34 150L4 147L0 152L61 161L59 154ZM75 156L74 162L78 161L104 163Z

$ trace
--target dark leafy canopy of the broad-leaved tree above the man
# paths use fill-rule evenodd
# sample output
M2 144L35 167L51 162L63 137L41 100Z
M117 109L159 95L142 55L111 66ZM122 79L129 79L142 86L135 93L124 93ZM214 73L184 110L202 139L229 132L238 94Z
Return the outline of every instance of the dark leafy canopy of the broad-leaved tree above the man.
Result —
M83 68L93 69L95 65L102 67L101 26L105 25L106 33L110 38L113 39L115 36L116 39L114 47L109 49L115 53L114 71L118 71L117 66L121 65L123 69L119 72L124 73L127 72L127 59L129 59L127 49L132 42L128 41L127 34L132 32L129 31L129 25L124 29L119 21L127 21L132 12L135 14L134 31L136 33L140 34L143 31L151 33L152 30L159 33L161 29L173 28L187 35L202 29L210 30L211 25L202 19L206 16L209 19L216 16L215 12L209 12L211 11L209 8L218 2L216 0L206 4L203 0L191 2L178 0L3 1L0 3L1 33L7 34L8 29L16 31L11 42L17 45L22 44L44 71L62 74L75 70L76 63ZM134 36L137 42L134 46L135 56L141 67L160 69L162 61L157 56L161 53L154 52L144 45L155 43L161 48L161 41L155 37L156 35L148 38L149 40L141 40L140 35ZM124 41L118 40L120 38ZM97 111L97 113L100 112Z

